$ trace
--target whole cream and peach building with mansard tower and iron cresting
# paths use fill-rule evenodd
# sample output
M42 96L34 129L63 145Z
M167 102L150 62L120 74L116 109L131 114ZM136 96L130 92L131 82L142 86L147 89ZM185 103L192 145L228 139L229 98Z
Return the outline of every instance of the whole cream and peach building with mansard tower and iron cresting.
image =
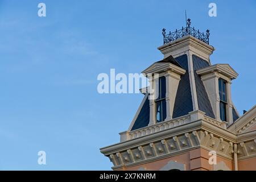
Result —
M256 170L256 106L239 115L229 64L210 63L214 47L190 26L166 34L163 59L142 73L158 97L144 98L117 144L101 148L114 170Z

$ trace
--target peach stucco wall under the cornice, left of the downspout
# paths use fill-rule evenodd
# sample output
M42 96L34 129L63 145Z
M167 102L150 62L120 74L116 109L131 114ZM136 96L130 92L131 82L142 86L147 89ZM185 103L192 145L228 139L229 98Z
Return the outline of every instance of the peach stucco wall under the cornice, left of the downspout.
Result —
M183 154L175 155L175 156L170 156L169 158L165 159L159 159L154 162L148 162L145 164L139 164L137 166L133 167L123 167L122 169L119 170L134 170L137 171L139 168L143 168L145 170L160 170L168 162L171 160L177 163L182 163L185 164L185 170L193 170L193 171L205 171L205 170L214 170L213 165L210 165L208 162L209 159L209 151L205 150L203 148L196 148L194 150L185 152ZM233 170L233 162L232 160L225 159L221 156L217 155L217 164L220 162L224 162L226 167L228 167L230 170ZM256 163L256 160L255 160Z

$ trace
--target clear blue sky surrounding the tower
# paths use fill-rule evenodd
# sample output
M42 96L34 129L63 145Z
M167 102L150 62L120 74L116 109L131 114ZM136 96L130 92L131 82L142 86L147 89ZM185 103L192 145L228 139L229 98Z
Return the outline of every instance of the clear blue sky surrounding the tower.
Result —
M38 17L38 3L47 6ZM217 17L208 16L210 2ZM141 94L98 94L97 75L141 73L163 58L162 28L210 30L213 64L240 75L238 111L256 104L256 2L0 1L0 169L110 169L99 148L119 141ZM47 154L39 166L38 151Z

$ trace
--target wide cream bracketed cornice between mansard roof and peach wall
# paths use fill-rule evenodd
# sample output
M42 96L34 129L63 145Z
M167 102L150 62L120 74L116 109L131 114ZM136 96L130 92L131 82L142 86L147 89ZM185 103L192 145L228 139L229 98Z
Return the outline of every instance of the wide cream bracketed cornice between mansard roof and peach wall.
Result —
M234 143L238 144L238 159L250 158L256 155L255 141L256 131L236 135L201 118L195 122L100 150L102 154L109 156L114 164L113 169L121 169L180 155L199 147L208 151L214 150L218 156L232 160ZM250 151L247 152L247 148Z

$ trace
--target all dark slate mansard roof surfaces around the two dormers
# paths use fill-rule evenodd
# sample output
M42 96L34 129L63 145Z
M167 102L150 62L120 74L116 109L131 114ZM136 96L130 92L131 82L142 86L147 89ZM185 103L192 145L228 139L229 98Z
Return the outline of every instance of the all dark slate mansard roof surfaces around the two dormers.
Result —
M205 115L207 115L208 117L216 119L213 114L212 106L210 105L209 97L208 97L207 91L205 90L203 81L201 81L200 75L197 74L197 70L203 70L211 66L208 61L205 61L195 55L192 56L192 61L193 61L193 72L195 77L197 102L199 105L199 110L203 111ZM171 64L176 63L176 65L179 65L180 68L185 70L185 74L181 75L180 77L180 82L177 88L177 94L175 98L174 111L172 113L172 117L178 118L178 117L187 115L189 112L193 111L187 55L184 54L179 57L175 57L175 59L174 57L169 56L166 59L158 61L154 64L159 64L159 63L171 63ZM152 69L152 65L151 67L149 67L149 69ZM131 123L130 129L137 130L137 129L141 129L142 127L146 127L149 123L149 114L150 114L150 103L146 95L144 96L142 104L139 107L137 114L135 115L134 121ZM233 115L236 115L236 119L238 118L238 114L235 110L233 112Z

